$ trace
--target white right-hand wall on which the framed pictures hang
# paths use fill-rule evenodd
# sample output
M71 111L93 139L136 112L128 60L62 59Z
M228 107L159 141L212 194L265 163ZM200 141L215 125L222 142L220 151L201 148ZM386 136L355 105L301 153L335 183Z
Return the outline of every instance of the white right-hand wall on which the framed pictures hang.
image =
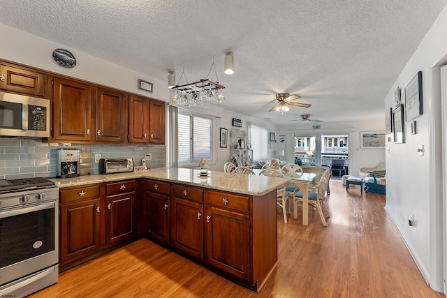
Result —
M386 154L386 209L430 287L439 292L444 291L439 66L447 61L446 28L447 6L385 98L386 107L394 107L397 86L403 91L422 70L423 115L416 119L418 133L411 135L411 124L406 123L405 143L390 143L390 152ZM403 102L404 94L403 91ZM424 145L424 156L416 151L420 144ZM415 221L411 227L410 215Z

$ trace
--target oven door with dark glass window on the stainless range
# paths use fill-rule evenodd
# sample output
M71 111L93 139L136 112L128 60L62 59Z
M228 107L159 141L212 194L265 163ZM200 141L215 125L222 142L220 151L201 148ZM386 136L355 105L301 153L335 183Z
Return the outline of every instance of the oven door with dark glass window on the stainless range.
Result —
M57 200L0 209L0 286L57 264Z

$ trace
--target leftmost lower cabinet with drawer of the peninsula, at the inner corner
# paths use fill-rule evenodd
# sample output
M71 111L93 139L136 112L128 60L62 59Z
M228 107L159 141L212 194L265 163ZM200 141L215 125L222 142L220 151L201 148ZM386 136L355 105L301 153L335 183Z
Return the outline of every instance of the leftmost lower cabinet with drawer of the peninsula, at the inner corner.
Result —
M146 181L147 234L163 244L169 244L169 184Z

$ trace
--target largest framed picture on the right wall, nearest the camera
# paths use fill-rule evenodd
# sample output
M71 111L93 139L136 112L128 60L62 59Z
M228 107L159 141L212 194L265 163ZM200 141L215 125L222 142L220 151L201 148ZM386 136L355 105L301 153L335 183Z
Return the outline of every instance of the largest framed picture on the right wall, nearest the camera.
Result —
M405 87L405 121L411 122L422 114L422 71L418 71Z

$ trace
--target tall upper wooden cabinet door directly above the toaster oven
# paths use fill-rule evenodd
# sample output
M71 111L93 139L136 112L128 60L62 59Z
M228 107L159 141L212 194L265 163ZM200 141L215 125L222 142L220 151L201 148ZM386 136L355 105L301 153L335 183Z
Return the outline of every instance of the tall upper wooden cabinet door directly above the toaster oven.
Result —
M124 142L126 105L124 93L114 89L96 87L95 140Z

